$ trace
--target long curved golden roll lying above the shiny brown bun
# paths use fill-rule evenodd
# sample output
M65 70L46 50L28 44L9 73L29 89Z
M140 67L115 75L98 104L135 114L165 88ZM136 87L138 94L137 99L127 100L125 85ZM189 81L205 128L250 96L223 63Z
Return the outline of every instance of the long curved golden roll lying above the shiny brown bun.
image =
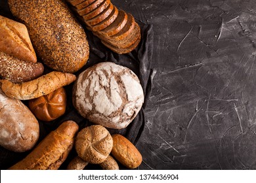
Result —
M14 84L9 80L1 80L2 90L8 97L20 100L35 99L47 95L62 86L66 86L75 80L71 73L53 71L40 76L35 80Z

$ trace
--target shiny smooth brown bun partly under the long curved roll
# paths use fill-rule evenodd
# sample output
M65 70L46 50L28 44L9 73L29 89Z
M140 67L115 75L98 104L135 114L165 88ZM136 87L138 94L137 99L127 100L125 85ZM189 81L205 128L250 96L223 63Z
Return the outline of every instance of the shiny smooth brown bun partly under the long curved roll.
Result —
M28 107L39 120L50 122L66 111L67 95L65 89L58 88L48 95L28 101Z

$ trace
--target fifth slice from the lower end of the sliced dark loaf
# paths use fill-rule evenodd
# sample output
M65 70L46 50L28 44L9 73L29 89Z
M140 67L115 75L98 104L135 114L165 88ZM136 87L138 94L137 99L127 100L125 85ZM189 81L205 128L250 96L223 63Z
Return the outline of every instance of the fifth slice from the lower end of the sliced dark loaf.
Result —
M108 27L108 25L112 24L112 22L116 20L117 14L118 14L118 9L114 6L114 9L112 10L111 14L107 18L105 18L102 22L96 25L90 26L85 21L85 24L87 24L87 27L89 27L89 30L100 31Z

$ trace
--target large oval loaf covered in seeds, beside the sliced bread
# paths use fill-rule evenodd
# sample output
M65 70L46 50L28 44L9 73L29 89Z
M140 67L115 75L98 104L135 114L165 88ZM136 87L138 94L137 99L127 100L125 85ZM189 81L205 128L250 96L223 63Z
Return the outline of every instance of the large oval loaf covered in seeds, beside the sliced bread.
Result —
M89 58L89 44L62 0L9 0L11 12L24 23L37 55L56 71L75 73Z

